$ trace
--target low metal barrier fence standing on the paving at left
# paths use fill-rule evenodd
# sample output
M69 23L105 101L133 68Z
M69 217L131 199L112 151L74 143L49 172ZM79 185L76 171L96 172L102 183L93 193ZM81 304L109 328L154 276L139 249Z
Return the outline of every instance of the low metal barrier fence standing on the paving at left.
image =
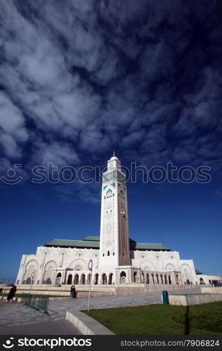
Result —
M36 296L24 293L22 296L22 305L32 308L36 312L48 314L48 296Z

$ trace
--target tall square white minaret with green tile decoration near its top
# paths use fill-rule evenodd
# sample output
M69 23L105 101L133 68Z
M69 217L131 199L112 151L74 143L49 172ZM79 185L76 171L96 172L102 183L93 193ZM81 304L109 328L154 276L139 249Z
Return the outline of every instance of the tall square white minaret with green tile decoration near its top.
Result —
M125 173L113 152L102 174L99 267L112 270L130 265Z

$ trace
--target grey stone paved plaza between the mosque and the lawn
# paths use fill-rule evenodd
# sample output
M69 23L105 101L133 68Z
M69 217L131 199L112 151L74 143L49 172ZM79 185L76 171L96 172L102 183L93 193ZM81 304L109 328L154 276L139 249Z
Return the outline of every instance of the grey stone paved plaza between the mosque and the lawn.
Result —
M200 293L200 288L168 291L169 293ZM90 309L128 307L162 303L162 292L135 293L122 296L98 296L90 299ZM0 334L3 335L78 335L80 332L65 319L67 310L87 310L88 298L50 300L48 312L43 317L21 303L0 305Z

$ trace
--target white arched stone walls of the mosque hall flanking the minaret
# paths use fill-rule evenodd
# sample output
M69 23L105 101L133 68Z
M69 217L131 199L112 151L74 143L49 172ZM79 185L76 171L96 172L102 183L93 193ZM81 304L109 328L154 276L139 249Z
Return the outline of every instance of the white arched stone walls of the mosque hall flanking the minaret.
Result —
M180 260L176 251L130 251L131 264L126 267L99 267L98 249L53 248L39 246L36 255L23 255L17 284L55 284L61 274L62 284L88 284L88 262L92 259L92 283L116 284L200 284L193 260ZM65 268L70 270L64 272ZM34 278L32 279L32 273ZM124 274L125 273L125 274ZM97 276L96 276L97 274ZM122 279L121 279L122 278Z

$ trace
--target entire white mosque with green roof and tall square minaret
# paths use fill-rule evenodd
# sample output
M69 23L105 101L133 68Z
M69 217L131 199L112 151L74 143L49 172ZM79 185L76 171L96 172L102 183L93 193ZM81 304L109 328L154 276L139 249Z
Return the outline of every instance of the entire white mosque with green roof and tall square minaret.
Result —
M115 153L102 174L100 223L100 237L53 239L35 255L23 255L16 284L90 284L90 260L91 284L201 284L193 260L129 238L125 173Z

